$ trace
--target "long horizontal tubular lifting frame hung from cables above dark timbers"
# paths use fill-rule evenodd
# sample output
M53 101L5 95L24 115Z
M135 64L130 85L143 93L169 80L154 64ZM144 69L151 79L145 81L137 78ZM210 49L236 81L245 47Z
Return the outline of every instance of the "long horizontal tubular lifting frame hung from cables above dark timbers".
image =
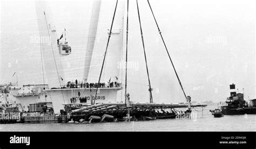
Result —
M207 104L191 104L191 107L206 107ZM187 108L187 103L130 103L130 110ZM125 103L98 103L72 112L99 112L127 110Z

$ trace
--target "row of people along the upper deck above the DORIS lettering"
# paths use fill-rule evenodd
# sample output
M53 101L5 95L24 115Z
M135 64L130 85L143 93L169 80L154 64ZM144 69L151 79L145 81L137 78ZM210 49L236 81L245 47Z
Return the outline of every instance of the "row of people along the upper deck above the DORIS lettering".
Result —
M100 83L83 83L78 82L77 80L75 82L69 81L66 83L66 87L62 88L122 88L122 83L119 82L100 82Z

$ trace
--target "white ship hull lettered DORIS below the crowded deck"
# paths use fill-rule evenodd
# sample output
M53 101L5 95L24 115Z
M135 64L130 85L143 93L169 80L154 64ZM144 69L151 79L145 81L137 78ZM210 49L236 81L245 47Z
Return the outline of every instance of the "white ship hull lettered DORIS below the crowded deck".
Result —
M117 91L122 88L99 88L95 103L116 103L117 102ZM71 104L72 97L78 97L78 91L80 92L80 97L86 97L87 104L91 105L91 95L93 100L95 99L96 88L93 88L90 93L90 88L86 88L84 91L81 88L67 88L67 89L49 89L44 90L45 93L40 93L34 96L16 96L16 103L21 103L24 111L28 111L28 105L38 102L52 102L53 109L55 113L59 113L60 110L64 110L65 104ZM83 91L83 93L82 93ZM47 97L45 98L45 95ZM77 100L76 103L81 103Z

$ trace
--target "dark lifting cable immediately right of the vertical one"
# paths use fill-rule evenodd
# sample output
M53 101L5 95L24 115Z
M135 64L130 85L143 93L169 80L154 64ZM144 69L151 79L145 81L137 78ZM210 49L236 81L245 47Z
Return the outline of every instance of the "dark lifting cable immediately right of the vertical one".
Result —
M143 39L142 24L140 23L138 0L137 0L137 9L138 9L138 17L139 17L140 34L142 35L142 45L143 45L143 50L144 50L145 62L146 62L147 79L149 80L150 103L153 103L152 88L151 88L150 77L149 77L149 69L147 68L147 58L146 58L145 45L144 45L144 39Z

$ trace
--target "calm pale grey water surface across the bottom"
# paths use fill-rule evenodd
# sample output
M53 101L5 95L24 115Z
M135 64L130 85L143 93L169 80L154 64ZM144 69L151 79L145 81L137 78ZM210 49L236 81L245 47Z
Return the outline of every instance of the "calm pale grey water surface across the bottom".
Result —
M256 131L256 115L214 118L210 109L192 110L191 119L157 119L93 124L0 124L0 131Z

